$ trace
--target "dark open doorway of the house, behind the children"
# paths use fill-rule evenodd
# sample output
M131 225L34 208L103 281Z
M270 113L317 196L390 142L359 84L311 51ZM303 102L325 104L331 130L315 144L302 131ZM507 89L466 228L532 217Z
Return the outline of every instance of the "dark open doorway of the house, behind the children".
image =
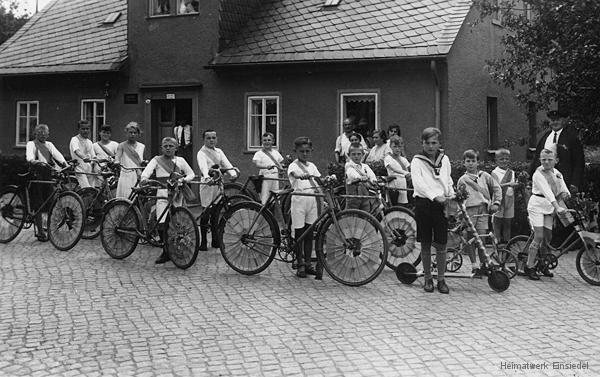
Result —
M164 137L174 137L179 143L177 155L186 159L193 166L194 141L192 100L166 99L152 101L152 155L160 154L160 142ZM176 128L177 127L177 128Z

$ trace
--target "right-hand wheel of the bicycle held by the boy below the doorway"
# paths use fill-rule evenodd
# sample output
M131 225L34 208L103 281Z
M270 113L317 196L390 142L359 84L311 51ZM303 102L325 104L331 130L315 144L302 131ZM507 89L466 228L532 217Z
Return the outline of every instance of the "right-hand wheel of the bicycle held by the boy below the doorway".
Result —
M191 267L198 257L200 234L192 213L183 207L171 211L166 248L173 264L181 269Z

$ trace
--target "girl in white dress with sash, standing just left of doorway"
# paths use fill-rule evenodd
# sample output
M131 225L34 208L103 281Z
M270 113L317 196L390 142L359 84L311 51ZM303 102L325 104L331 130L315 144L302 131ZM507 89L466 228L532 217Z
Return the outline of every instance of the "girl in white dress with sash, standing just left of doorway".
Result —
M131 189L137 184L144 160L146 146L137 141L140 136L140 126L130 122L125 126L127 141L119 144L115 162L121 165L119 183L117 184L117 198L128 198Z

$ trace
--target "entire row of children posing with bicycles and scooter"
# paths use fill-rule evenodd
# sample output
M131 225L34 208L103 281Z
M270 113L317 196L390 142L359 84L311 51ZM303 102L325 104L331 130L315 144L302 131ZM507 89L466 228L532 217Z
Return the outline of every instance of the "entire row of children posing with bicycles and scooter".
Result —
M433 279L431 274L431 250L435 249L437 259L437 288L440 293L448 293L449 288L444 279L446 266L446 244L448 234L447 202L455 195L453 181L451 178L451 166L448 156L441 149L441 131L437 128L426 128L421 135L422 151L417 153L412 161L403 156L403 142L399 137L399 130L390 132L392 134L388 143L385 133L377 132L374 135L378 149L383 150L386 145L387 152L383 157L383 163L388 175L394 177L389 182L392 189L390 199L392 204L403 204L408 202L407 178L412 179L414 189L415 219L417 223L417 241L421 243L421 254L425 274L424 289L433 292ZM100 141L92 143L89 139L90 123L88 121L78 122L78 134L71 139L69 144L71 157L76 159L77 179L81 187L94 185L94 158L114 160L121 167L117 186L117 197L128 197L131 189L138 183L150 176L155 175L159 180L173 177L177 174L178 179L190 182L194 178L194 172L184 158L176 156L177 141L172 137L162 140L162 154L154 157L145 167L143 163L145 146L138 141L140 128L137 123L130 122L125 127L127 140L116 143L110 140L110 126L102 126L100 129ZM36 127L36 139L27 144L27 160L30 162L54 161L64 164L65 160L46 139L49 135L47 125L40 124ZM223 151L216 147L217 134L214 130L206 130L203 133L204 146L198 151L197 162L200 168L201 180L204 183L212 178L215 168L224 169L226 174L236 177L238 171L233 168ZM369 165L364 161L365 144L357 140L349 140L347 146L348 161L345 163L346 190L349 195L368 196L369 186L376 183L376 176ZM262 184L260 193L261 202L264 204L271 190L278 188L277 178L279 172L284 170L282 166L283 157L273 148L274 135L265 133L262 135L262 149L253 156L253 162L260 169L259 174L266 178ZM310 162L313 145L308 137L298 137L294 140L294 151L296 159L287 167L287 174L291 187L295 192L314 192L317 186L315 177L321 174L317 167ZM526 274L534 280L539 280L537 271L545 276L552 276L547 268L536 267L538 251L541 259L547 251L552 234L554 213L564 213L566 209L560 205L562 199L569 196L569 191L562 179L561 174L554 169L556 164L556 151L544 149L540 155L541 166L533 175L532 196L529 200L527 210L529 221L534 232L534 239L529 247L529 257L525 269ZM463 164L466 172L460 177L457 184L464 187L468 193L465 202L467 212L475 224L478 233L486 233L488 228L488 216L493 214L493 229L501 242L510 239L511 219L514 217L514 188L517 185L515 173L509 168L510 151L500 149L496 152L497 167L492 174L480 171L479 155L474 150L463 153ZM142 171L143 170L143 171ZM166 193L164 193L166 195ZM218 195L217 188L208 184L200 187L201 205L208 207ZM177 198L181 204L181 198ZM157 215L164 208L166 201L157 203ZM348 208L357 208L369 211L372 202L370 199L349 198ZM303 234L307 231L318 217L318 203L316 197L295 195L291 200L291 220L294 236L299 239L300 248L297 252L297 272L299 277L317 274L311 265L312 234ZM204 216L201 220L202 242L201 249L206 249L206 231L208 218ZM42 231L42 227L38 232ZM214 230L213 230L214 231ZM47 238L38 233L40 240ZM218 242L213 240L213 247L218 247ZM480 268L485 268L488 263L485 253L479 253L481 265L476 264L475 248L469 245L469 257L473 272L477 273ZM156 263L168 261L168 255L163 253Z

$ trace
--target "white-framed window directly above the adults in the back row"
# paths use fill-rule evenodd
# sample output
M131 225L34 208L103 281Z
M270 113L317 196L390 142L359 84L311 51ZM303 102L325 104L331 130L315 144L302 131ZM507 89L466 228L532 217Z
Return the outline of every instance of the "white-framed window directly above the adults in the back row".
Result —
M369 137L374 130L379 129L377 92L356 92L340 94L340 122L341 133L344 119L350 118L354 130L363 137Z

